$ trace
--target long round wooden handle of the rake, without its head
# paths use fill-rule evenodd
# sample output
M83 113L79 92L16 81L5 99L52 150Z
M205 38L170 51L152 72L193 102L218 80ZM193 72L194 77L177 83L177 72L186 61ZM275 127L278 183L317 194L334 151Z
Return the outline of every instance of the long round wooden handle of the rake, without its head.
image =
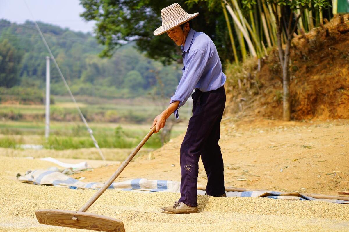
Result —
M115 173L110 177L110 179L98 190L98 192L93 195L93 197L90 198L88 202L79 210L80 212L86 212L88 208L104 193L104 191L115 181L115 179L120 175L122 170L125 169L125 167L128 165L128 163L133 159L133 157L137 154L137 152L141 149L141 147L144 145L144 143L147 142L147 140L150 138L151 135L153 135L154 131L156 130L156 125L151 128L151 130L148 132L146 137L142 139L142 141L136 146L136 148L131 152L131 154L128 155L126 160L121 163L120 167L115 171Z

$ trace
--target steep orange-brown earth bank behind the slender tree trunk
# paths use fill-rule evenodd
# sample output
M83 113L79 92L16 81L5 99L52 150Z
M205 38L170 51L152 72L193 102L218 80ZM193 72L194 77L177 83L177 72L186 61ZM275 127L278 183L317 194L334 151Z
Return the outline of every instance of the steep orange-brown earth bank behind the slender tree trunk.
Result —
M349 119L349 20L334 17L323 27L292 40L291 118ZM230 65L226 115L282 118L282 75L276 49L262 60ZM240 80L239 80L240 79Z

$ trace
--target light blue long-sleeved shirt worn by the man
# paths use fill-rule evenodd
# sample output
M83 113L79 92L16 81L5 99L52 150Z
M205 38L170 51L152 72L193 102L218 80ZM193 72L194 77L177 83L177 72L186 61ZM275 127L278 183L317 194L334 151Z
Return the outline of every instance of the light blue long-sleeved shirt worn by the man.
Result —
M183 76L170 101L170 104L180 101L178 108L184 105L194 88L203 92L216 90L222 87L227 79L216 46L207 34L190 29L184 45L181 47ZM178 119L178 109L173 113Z

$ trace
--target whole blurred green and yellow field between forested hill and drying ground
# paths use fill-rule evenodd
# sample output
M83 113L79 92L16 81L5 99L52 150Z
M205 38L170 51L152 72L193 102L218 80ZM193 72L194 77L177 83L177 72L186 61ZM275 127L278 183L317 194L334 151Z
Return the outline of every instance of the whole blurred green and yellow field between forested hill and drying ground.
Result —
M55 97L51 105L50 137L45 139L45 106L1 104L0 147L20 149L21 144L41 144L45 149L66 150L94 147L89 133L72 102L66 97ZM161 113L168 101L151 99L104 100L86 99L79 107L86 117L101 148L131 149L150 130L154 117ZM182 122L174 125L171 138L186 130L190 105L181 109ZM59 114L61 120L59 119ZM6 118L4 115L17 115ZM53 116L55 115L55 116ZM109 118L108 118L109 117ZM115 122L111 118L115 119ZM173 115L171 116L173 117ZM52 119L53 118L53 119ZM144 148L156 149L162 145L160 133L154 134Z

